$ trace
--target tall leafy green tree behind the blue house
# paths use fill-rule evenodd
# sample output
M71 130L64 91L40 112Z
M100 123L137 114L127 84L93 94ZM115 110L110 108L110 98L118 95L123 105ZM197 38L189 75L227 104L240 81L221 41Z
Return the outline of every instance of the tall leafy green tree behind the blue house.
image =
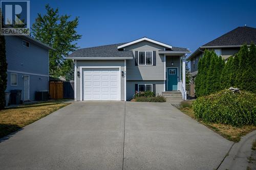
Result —
M32 35L35 39L52 46L56 51L49 51L49 71L53 77L67 77L73 72L74 65L71 60L65 60L70 52L75 51L77 41L81 35L77 34L78 17L70 20L70 15L59 15L58 9L46 5L47 13L37 15L32 25Z

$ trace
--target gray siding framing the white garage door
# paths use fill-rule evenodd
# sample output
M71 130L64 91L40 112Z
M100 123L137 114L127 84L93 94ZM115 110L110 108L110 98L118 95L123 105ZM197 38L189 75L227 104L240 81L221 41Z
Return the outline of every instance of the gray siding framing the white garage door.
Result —
M124 60L90 60L90 61L77 61L77 71L80 71L81 66L120 66L121 71L124 71ZM80 77L76 78L76 98L77 101L81 100L81 91L80 91L80 79L82 74L80 73ZM121 101L124 101L124 77L121 77Z

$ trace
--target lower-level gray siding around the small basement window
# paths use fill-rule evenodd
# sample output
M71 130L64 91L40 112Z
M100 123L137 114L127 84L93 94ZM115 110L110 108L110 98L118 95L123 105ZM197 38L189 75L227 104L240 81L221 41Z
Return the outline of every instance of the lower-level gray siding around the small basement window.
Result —
M126 81L126 100L130 101L135 93L135 84L156 84L156 94L162 94L164 81Z

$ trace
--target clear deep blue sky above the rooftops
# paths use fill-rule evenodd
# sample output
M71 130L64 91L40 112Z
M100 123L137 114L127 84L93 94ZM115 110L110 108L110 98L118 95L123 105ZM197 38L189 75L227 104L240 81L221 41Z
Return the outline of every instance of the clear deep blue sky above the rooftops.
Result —
M45 4L79 17L80 47L129 42L141 37L195 51L239 26L256 28L256 1L60 1L31 0L30 23Z

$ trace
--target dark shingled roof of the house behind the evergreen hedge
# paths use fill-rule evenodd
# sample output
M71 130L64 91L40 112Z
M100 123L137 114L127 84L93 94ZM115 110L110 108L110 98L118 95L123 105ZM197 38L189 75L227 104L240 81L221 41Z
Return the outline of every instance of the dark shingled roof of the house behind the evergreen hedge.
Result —
M227 46L256 43L256 28L238 27L202 46Z

